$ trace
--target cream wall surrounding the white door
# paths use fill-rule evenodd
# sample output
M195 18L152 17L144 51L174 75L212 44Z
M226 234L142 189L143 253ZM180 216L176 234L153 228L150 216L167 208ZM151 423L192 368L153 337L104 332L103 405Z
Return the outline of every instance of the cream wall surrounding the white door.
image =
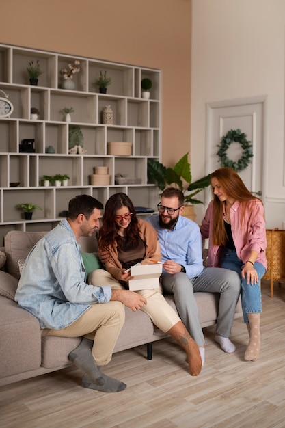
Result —
M192 0L192 4L193 174L199 176L205 168L206 103L267 96L264 206L267 227L285 228L285 1Z

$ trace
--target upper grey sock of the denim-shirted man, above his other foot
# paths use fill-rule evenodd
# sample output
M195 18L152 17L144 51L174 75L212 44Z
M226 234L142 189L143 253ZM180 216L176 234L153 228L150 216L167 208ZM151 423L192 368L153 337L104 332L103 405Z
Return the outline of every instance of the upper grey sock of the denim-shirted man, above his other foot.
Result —
M70 352L68 358L83 373L87 381L96 385L104 385L103 373L98 369L92 355L92 340L83 338L81 344Z

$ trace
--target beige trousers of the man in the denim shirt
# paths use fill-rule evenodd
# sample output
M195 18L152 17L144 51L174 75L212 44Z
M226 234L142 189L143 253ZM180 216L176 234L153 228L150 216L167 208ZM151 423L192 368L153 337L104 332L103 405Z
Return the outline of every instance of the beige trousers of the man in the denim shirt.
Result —
M111 361L113 349L124 325L124 305L120 302L93 304L74 323L60 330L44 328L42 336L79 337L94 340L93 358L98 366Z

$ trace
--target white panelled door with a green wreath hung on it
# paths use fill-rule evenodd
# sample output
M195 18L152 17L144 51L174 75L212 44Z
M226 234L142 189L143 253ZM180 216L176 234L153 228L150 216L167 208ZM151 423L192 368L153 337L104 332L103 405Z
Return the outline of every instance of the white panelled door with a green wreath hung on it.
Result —
M264 196L264 116L266 97L243 98L242 100L208 103L206 109L206 173L221 167L217 156L217 147L221 138L233 129L241 129L247 140L252 142L254 157L239 176L247 189L259 198ZM227 155L232 161L238 161L243 149L238 142L230 144ZM206 195L206 206L211 200L211 192Z

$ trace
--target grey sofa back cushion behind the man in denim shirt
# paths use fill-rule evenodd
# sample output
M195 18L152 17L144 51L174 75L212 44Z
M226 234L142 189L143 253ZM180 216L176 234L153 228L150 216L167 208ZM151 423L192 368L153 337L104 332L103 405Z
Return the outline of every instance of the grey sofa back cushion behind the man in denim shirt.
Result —
M44 237L47 232L21 232L21 230L10 230L5 236L5 252L7 257L8 272L19 279L20 271L18 260L25 260L33 245Z

